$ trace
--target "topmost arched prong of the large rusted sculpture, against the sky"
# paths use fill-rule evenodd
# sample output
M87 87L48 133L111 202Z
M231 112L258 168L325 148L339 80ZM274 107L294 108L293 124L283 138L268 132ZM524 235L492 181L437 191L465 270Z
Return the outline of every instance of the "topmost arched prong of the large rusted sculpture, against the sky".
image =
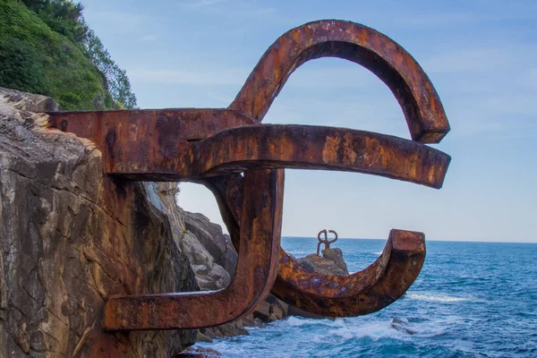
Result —
M379 31L351 21L313 21L287 31L268 47L229 109L261 121L289 75L320 57L340 57L375 73L403 108L413 141L438 143L449 132L439 96L413 56Z

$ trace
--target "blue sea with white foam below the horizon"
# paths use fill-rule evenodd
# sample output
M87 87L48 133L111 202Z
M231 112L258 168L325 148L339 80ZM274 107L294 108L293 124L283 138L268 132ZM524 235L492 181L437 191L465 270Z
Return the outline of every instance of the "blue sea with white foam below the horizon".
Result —
M316 238L283 237L294 257ZM386 241L340 239L350 272L369 266ZM422 272L405 298L370 315L288 317L214 340L224 357L537 357L537 244L426 243Z

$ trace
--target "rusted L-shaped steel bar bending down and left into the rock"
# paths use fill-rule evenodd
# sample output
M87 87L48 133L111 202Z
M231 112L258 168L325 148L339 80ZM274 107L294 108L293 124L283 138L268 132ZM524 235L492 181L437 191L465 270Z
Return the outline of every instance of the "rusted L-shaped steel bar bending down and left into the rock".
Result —
M239 259L234 280L216 292L111 296L105 329L216 326L242 317L268 295L277 273L283 207L282 171L244 174Z

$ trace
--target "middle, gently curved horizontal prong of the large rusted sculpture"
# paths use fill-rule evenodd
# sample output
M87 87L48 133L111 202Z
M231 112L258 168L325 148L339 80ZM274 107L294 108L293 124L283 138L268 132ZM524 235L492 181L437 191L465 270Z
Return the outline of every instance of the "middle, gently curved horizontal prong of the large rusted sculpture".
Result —
M190 177L259 168L325 169L386 176L440 188L451 158L415 141L374 132L312 125L243 125L185 151ZM170 170L171 171L171 170ZM179 168L175 170L181 173Z

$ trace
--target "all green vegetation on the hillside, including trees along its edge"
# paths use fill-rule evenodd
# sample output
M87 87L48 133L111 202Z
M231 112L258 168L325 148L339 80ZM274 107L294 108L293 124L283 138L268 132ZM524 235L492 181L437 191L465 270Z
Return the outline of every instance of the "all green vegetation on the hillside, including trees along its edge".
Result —
M50 96L66 110L136 107L126 73L82 9L69 0L0 1L0 86Z

